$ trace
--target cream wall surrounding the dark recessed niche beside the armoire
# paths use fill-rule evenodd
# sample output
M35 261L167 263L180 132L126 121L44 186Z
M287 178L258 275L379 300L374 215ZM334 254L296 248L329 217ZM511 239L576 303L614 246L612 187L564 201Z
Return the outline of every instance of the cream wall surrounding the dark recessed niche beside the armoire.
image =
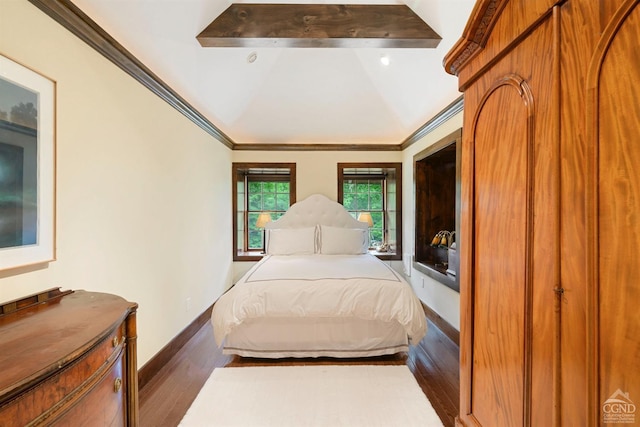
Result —
M462 127L462 112L425 135L402 152L402 260L405 271L410 271L410 281L418 297L451 326L460 330L460 294L431 277L412 268L414 251L413 156L440 139Z

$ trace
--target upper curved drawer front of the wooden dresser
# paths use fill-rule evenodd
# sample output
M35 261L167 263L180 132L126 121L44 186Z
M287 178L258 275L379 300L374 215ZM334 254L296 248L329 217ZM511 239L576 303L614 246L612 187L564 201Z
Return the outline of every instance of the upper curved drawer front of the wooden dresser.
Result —
M15 426L48 424L82 400L113 369L118 370L122 378L124 332L124 324L119 325L68 366L61 366L43 381L6 402L0 407L0 420Z

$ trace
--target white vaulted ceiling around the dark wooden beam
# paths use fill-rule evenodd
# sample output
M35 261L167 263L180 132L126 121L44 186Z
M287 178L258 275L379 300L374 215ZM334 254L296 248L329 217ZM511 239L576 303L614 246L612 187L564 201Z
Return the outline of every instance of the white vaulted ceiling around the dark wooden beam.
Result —
M400 144L460 95L442 60L475 0L277 1L406 3L436 49L204 48L196 36L232 1L73 2L234 143Z

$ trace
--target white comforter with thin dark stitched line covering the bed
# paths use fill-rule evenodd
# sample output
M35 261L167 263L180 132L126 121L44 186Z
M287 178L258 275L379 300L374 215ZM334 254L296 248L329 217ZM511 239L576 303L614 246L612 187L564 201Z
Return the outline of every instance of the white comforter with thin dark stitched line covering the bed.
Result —
M266 256L215 303L216 342L244 321L264 317L395 321L414 343L427 328L411 286L368 254Z

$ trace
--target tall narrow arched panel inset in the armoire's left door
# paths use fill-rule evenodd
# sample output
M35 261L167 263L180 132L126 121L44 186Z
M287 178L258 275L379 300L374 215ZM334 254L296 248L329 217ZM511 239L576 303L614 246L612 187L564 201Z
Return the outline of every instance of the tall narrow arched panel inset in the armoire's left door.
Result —
M471 408L486 426L518 425L524 417L531 141L526 101L518 89L515 78L499 82L481 106L474 129ZM496 120L501 110L509 114Z

